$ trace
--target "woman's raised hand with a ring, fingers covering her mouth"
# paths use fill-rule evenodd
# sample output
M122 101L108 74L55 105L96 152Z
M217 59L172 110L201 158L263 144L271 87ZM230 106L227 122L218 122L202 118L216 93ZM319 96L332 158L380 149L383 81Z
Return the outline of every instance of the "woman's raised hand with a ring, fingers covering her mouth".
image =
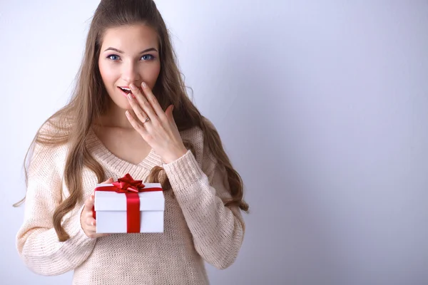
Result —
M126 117L133 128L158 155L161 155L165 163L173 162L185 155L188 150L181 140L173 118L174 106L168 106L164 112L155 95L145 83L141 84L144 94L133 84L130 87L135 98L128 94L128 101L133 112L127 110Z

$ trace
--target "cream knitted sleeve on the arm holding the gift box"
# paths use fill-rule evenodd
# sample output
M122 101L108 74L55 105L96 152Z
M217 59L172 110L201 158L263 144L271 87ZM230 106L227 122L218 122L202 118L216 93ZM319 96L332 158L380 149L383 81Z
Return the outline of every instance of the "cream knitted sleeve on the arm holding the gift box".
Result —
M64 147L36 144L29 166L24 223L16 235L16 246L26 266L36 274L57 275L76 268L88 258L96 242L81 228L81 206L63 218L70 239L58 241L52 216L61 202L60 169L65 153Z

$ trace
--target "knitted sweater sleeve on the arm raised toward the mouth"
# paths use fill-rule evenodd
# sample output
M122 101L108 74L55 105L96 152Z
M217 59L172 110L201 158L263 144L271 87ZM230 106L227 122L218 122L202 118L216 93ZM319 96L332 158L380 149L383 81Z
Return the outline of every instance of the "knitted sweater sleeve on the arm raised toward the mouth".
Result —
M235 261L244 237L244 221L238 207L225 207L230 198L225 169L206 151L201 166L188 150L178 160L164 164L185 221L201 257L218 269ZM205 170L205 172L203 171Z

